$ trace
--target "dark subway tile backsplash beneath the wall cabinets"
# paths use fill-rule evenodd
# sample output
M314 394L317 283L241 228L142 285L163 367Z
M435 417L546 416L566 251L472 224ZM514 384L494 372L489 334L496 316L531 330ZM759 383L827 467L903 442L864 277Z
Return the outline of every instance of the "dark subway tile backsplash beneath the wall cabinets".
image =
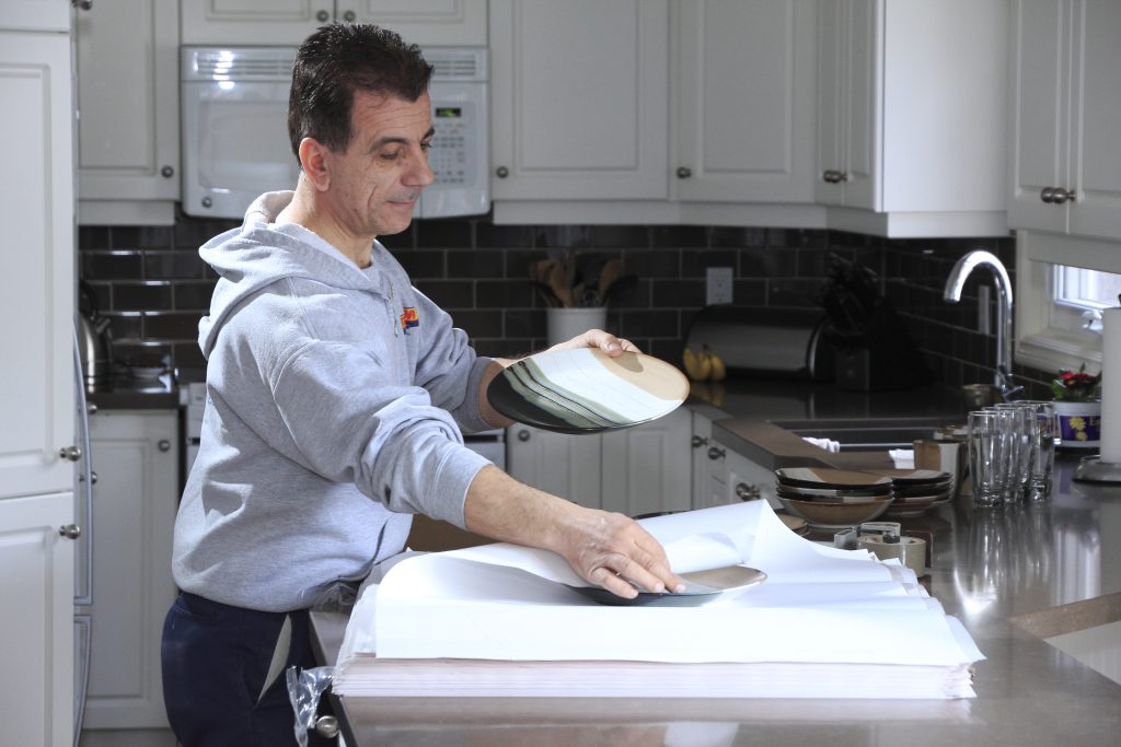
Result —
M172 227L83 226L80 272L111 319L120 361L204 365L197 344L215 274L197 249L235 221L180 217ZM453 316L484 355L522 355L545 346L545 299L529 265L567 253L619 259L633 276L611 299L608 327L643 351L676 363L694 315L705 302L705 272L731 267L735 302L814 308L831 255L872 270L880 289L947 385L993 379L994 330L978 330L978 287L961 304L942 299L954 262L986 249L1015 278L1006 239L888 240L841 231L729 226L494 225L489 218L416 221L383 243L416 286ZM995 293L990 293L994 298ZM995 321L995 301L990 318ZM1047 374L1017 366L1029 394L1048 398Z

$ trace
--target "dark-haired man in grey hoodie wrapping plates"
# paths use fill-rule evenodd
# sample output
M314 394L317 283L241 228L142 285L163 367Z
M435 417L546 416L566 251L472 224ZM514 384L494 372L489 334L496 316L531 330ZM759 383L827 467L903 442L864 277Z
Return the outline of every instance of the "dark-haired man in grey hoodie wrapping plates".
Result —
M633 521L532 489L464 448L501 427L502 367L376 241L432 183L432 68L372 26L300 47L288 130L295 193L262 195L200 254L220 274L200 324L207 402L175 526L183 595L164 629L168 716L185 747L293 741L282 672L314 664L307 609L401 552L424 513L553 550L622 596L680 588ZM591 330L565 347L633 349Z

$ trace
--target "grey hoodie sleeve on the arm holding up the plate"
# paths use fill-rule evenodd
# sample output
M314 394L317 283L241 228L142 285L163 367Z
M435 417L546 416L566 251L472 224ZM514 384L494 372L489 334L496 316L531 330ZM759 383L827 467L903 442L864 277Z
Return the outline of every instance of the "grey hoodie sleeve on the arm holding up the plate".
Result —
M452 413L465 433L492 428L479 414L479 385L491 358L476 356L467 344L467 333L452 326L452 317L413 289L424 306L421 314L434 324L426 327L429 336L424 355L417 361L415 381L426 389L433 404Z

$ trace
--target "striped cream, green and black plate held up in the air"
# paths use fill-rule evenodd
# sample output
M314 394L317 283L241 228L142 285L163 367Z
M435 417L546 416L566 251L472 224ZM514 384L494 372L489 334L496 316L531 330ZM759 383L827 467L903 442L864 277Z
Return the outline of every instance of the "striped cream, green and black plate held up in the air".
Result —
M689 383L665 361L641 353L611 357L594 347L546 351L495 376L487 399L517 422L559 433L630 428L673 412Z

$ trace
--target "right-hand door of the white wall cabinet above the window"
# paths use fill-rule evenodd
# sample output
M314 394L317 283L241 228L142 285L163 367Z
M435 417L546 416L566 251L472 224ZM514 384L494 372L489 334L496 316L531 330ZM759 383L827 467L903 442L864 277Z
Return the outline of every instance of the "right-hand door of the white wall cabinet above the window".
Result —
M1121 2L1082 0L1072 15L1071 233L1121 239Z

